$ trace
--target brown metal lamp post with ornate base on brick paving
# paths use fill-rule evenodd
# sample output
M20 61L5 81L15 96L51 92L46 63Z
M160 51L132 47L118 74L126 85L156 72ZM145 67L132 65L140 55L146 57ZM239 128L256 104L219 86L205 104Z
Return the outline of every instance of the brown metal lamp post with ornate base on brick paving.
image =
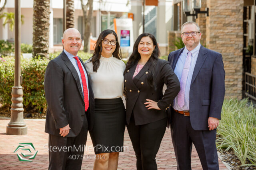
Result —
M14 66L14 86L12 87L12 108L11 120L6 127L6 134L24 135L28 133L28 128L23 120L23 90L20 76L20 0L15 0L15 66Z

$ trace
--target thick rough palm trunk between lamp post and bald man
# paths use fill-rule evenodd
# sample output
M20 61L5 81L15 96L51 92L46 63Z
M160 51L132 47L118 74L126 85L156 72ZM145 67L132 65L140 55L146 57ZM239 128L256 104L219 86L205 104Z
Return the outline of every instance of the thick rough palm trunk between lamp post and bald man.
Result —
M50 0L34 0L33 57L49 58Z

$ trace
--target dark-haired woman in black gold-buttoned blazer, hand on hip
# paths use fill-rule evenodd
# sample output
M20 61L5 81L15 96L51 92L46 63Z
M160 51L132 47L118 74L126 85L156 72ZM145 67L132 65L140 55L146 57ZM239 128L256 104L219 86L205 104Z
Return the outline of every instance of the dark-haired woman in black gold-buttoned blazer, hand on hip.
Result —
M124 71L126 123L137 170L156 170L156 154L167 124L166 110L180 91L180 83L168 61L158 59L156 38L141 34ZM163 86L167 89L163 95Z

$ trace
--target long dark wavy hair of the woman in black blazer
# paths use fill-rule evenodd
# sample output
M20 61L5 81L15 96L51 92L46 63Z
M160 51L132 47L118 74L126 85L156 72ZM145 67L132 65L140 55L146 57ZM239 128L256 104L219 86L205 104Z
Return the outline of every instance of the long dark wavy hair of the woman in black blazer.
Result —
M156 90L156 83L154 82L154 74L156 72L155 67L156 67L156 63L158 61L158 57L160 57L160 50L159 47L157 45L157 41L156 38L150 34L150 33L142 33L140 34L140 36L138 36L137 40L135 41L134 45L133 45L133 51L132 54L129 57L129 60L126 64L126 68L124 70L124 74L127 72L128 69L130 69L133 65L135 65L139 60L140 60L140 53L138 53L138 45L140 43L140 40L143 37L149 37L151 38L153 45L155 45L155 49L153 51L153 53L151 54L149 61L152 63L151 67L149 68L148 71L148 84L150 85L150 87L154 88Z

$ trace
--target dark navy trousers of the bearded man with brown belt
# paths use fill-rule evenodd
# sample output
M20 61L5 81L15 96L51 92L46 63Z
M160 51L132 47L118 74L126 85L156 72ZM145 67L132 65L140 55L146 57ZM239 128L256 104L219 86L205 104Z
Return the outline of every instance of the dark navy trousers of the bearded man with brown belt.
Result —
M191 170L192 143L196 148L202 168L204 170L219 170L215 144L216 129L194 130L190 123L190 117L185 117L172 110L171 134L178 170Z

